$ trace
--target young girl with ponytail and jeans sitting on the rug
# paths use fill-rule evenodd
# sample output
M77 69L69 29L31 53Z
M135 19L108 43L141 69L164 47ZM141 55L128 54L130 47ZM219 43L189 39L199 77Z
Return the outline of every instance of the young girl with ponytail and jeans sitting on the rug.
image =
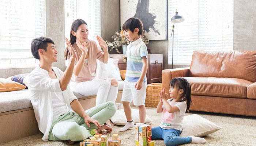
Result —
M163 112L162 122L158 127L152 128L152 139L163 139L166 146L205 143L206 140L200 137L179 137L186 109L189 112L192 103L190 83L185 78L178 77L171 80L170 87L171 99L167 99L168 94L165 93L165 88L160 92L157 113Z

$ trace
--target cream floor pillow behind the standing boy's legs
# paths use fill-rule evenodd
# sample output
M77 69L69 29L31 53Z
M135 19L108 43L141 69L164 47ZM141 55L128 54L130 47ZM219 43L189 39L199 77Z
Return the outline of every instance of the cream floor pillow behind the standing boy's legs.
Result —
M112 116L112 118L110 118L110 119L116 125L125 125L127 123L127 120L126 120L126 117L125 117L125 114L124 114L124 109L117 110L116 114L114 114L114 116ZM133 120L134 124L140 122L139 110L132 109L132 120ZM149 123L149 122L152 122L152 121L153 120L151 120L146 115L145 123Z

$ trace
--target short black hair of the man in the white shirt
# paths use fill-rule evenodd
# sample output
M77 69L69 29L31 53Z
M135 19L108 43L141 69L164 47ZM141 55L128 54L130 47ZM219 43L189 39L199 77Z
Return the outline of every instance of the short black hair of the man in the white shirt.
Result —
M31 42L30 49L35 59L40 60L38 49L44 49L45 51L47 51L46 49L48 46L47 43L52 43L53 45L55 45L51 38L39 37L39 38L33 39L33 41Z

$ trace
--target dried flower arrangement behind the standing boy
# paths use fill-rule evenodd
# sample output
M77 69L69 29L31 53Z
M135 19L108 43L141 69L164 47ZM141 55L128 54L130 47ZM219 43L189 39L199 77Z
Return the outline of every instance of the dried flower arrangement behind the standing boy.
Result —
M145 33L145 31L143 30L143 34ZM112 35L111 37L113 39L113 42L109 42L109 41L106 41L106 43L108 44L108 46L110 47L110 51L112 51L113 49L116 50L117 53L121 54L120 51L118 51L118 48L120 46L123 46L123 45L129 45L129 41L127 38L125 38L125 33L123 30L121 30L120 32L116 32L114 35ZM145 35L143 35L142 37L142 41L145 43L145 44L148 44L149 41L147 39L147 37Z

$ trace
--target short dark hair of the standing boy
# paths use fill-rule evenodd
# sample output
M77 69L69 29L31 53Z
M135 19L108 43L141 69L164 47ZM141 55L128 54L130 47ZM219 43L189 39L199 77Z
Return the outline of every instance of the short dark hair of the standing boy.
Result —
M143 36L143 24L139 18L133 18L133 17L129 18L128 20L125 21L125 23L122 26L123 31L131 30L132 33L135 30L135 28L139 28L138 35Z

